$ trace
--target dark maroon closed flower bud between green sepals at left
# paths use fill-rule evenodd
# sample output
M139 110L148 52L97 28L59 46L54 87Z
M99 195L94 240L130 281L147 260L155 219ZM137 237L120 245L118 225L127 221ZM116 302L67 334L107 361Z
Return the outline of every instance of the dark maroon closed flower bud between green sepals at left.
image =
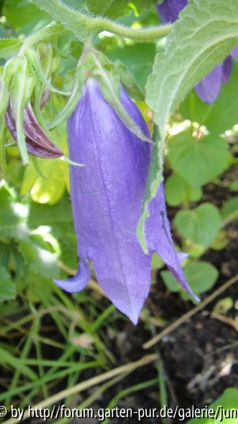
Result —
M17 141L16 121L11 101L6 110L5 119L8 130L11 132L13 139ZM28 102L23 111L23 131L25 133L25 143L31 155L39 158L59 158L64 155L57 146L54 146L38 124L30 102Z

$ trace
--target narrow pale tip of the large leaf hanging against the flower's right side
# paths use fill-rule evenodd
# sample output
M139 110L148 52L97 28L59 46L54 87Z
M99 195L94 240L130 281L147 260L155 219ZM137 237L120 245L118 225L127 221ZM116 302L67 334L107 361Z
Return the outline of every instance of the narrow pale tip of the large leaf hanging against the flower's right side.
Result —
M150 201L155 199L157 189L159 188L160 182L162 182L162 168L163 168L163 151L162 141L160 139L160 132L155 125L153 133L153 141L155 146L150 159L150 168L148 173L147 187L145 190L145 196L142 204L141 217L138 221L136 233L143 252L148 254L148 247L145 240L145 220L150 216L149 204Z

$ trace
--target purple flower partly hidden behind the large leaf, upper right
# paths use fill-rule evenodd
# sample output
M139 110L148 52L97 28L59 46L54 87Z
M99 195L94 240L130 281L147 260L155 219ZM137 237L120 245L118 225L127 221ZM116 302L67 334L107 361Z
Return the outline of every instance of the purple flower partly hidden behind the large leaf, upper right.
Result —
M157 11L160 14L162 23L171 23L178 19L179 13L188 4L188 0L164 0L162 4L157 4ZM213 103L220 93L222 82L228 83L232 71L232 57L238 61L238 45L225 58L222 64L215 68L198 83L194 89L201 100L206 103Z

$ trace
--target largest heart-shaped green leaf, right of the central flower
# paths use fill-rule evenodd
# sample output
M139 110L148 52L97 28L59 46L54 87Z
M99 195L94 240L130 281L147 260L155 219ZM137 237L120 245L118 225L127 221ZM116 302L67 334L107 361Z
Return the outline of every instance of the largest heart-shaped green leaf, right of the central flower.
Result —
M198 188L217 177L227 165L227 142L182 131L169 139L169 163L182 179Z

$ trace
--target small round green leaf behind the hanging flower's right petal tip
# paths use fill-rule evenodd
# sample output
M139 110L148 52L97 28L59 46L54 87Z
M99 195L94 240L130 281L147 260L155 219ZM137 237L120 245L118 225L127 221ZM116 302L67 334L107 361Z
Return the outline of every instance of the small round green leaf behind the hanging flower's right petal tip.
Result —
M215 266L205 261L189 262L184 273L196 295L201 295L201 293L205 293L213 288L213 285L218 279L218 270ZM191 299L191 296L181 289L181 286L170 271L161 271L160 275L170 291L175 293L181 292L184 300Z

